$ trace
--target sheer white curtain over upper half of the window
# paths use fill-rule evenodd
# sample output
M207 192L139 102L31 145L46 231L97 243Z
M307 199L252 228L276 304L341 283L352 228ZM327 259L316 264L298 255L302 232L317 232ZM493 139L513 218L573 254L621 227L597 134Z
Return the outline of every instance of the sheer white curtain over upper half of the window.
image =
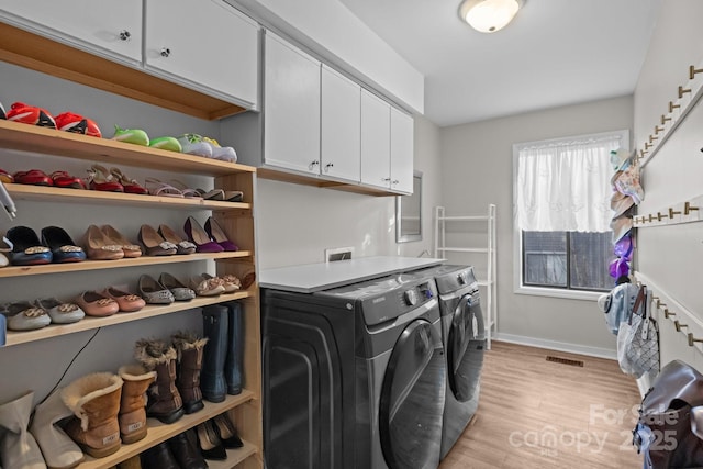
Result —
M517 150L516 216L523 231L609 232L610 152L621 135L528 144Z

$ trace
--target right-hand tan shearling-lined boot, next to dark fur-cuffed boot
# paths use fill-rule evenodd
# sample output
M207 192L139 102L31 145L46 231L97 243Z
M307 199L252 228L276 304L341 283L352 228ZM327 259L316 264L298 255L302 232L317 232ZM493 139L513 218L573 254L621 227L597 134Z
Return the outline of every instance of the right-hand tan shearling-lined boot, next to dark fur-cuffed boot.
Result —
M146 436L146 390L156 379L156 371L147 371L142 365L125 365L118 371L122 384L120 400L120 436L122 443L134 443Z

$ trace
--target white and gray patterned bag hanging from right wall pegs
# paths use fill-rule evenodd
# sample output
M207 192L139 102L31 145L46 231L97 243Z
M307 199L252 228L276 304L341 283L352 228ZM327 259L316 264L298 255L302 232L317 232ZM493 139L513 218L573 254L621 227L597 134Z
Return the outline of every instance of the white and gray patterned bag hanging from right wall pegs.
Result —
M659 331L649 315L648 300L647 288L641 286L627 323L617 332L617 361L624 373L635 378L659 372Z

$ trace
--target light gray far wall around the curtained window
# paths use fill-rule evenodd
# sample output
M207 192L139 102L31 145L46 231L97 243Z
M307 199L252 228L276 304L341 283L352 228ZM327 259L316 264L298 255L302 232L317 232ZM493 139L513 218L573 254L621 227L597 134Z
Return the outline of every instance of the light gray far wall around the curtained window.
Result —
M498 315L503 338L613 355L615 338L594 301L514 293L512 146L632 129L632 97L623 97L442 130L442 200L447 215L484 213L489 203L498 205Z

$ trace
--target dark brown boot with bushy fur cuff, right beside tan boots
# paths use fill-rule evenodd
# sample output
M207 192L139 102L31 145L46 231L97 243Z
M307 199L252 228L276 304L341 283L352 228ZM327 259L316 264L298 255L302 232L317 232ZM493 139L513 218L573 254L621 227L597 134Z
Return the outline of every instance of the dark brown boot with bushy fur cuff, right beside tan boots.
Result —
M164 340L141 339L134 356L147 370L156 371L156 381L148 390L146 416L166 424L182 417L183 401L176 388L176 349Z

